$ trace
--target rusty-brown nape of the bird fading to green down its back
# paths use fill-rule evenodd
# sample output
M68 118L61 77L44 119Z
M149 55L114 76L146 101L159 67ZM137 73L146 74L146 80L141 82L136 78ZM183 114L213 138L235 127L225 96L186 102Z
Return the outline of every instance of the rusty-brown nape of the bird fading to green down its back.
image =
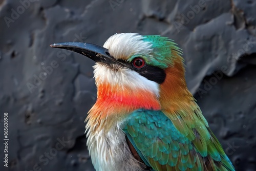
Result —
M177 58L181 59L180 56ZM165 81L160 85L161 111L189 140L195 140L196 136L208 137L208 123L187 89L182 60L176 60L174 66L167 68L165 72Z

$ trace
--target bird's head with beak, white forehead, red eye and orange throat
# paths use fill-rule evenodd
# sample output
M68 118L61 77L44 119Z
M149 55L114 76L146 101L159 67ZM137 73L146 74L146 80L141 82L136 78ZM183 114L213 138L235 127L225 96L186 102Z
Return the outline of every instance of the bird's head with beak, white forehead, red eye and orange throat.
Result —
M103 47L80 42L51 47L72 50L96 62L96 105L105 104L104 108L111 104L124 113L160 110L169 105L169 96L177 101L178 93L187 90L181 50L166 37L121 33L111 36Z

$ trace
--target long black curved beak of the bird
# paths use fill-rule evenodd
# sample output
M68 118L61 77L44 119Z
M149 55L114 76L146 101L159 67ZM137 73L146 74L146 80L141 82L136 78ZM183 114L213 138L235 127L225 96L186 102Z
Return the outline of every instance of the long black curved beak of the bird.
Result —
M110 55L108 49L98 45L83 42L62 42L59 44L50 45L50 47L71 50L87 56L95 62L104 63L105 65L110 66L113 64L118 64L123 66L123 63L117 61Z

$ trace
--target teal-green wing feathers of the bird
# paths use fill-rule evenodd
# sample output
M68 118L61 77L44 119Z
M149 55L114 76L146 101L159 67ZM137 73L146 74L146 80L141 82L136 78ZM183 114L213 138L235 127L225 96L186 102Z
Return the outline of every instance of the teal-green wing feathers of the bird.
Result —
M128 116L123 131L141 159L155 171L234 170L207 126L208 141L194 130L192 142L161 111L137 110Z

